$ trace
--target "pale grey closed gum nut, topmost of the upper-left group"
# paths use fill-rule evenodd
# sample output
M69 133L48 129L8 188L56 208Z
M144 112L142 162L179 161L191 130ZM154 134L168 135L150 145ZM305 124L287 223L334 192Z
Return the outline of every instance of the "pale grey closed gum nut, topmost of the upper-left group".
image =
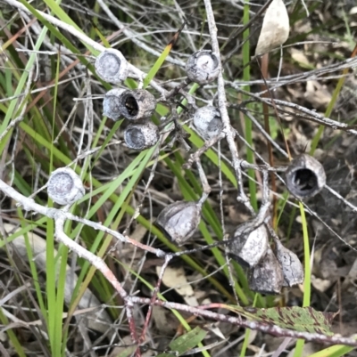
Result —
M108 83L120 83L128 77L127 60L118 50L106 48L95 60L96 74Z

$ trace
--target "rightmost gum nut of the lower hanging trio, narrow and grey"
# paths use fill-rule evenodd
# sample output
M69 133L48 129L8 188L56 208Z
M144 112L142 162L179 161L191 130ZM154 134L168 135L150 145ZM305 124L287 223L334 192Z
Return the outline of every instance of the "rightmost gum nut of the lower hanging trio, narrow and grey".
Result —
M278 239L275 239L274 251L283 270L283 287L303 284L303 265L295 253L284 247Z

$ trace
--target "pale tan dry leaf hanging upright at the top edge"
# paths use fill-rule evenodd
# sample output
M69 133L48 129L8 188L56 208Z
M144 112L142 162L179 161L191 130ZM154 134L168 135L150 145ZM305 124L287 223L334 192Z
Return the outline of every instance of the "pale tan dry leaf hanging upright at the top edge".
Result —
M269 53L283 45L289 37L289 16L283 0L273 0L262 20L262 31L255 49L255 55Z

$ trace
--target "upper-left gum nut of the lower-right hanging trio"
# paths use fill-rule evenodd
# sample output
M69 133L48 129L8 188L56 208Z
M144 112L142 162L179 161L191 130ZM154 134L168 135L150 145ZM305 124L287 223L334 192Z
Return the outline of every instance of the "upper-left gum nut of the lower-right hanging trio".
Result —
M253 268L265 256L268 249L268 231L264 225L252 231L252 223L243 223L234 231L228 243L228 255L237 263Z

